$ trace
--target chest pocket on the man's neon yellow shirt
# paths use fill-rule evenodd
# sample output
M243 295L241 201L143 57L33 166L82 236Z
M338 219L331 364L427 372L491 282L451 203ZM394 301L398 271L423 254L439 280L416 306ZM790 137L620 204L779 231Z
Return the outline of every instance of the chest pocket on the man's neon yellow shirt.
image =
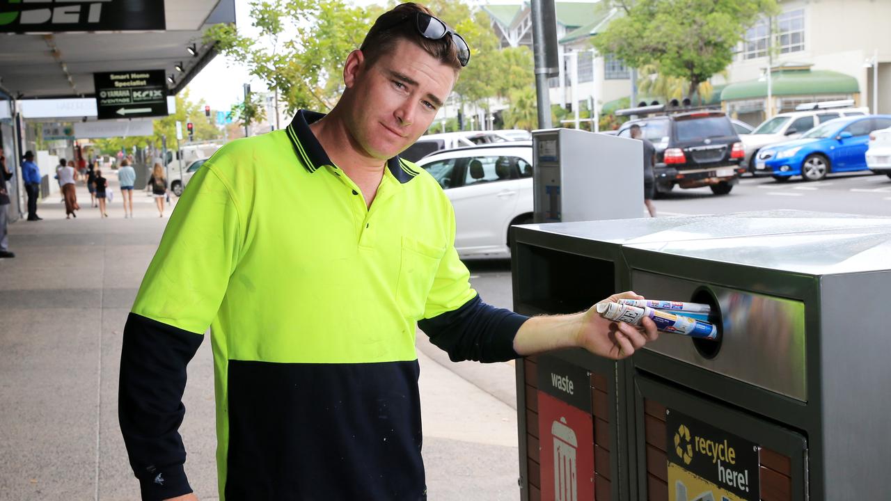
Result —
M446 255L446 247L402 237L402 258L399 266L399 282L396 285L396 305L403 316L421 319L433 281L437 276L439 261Z

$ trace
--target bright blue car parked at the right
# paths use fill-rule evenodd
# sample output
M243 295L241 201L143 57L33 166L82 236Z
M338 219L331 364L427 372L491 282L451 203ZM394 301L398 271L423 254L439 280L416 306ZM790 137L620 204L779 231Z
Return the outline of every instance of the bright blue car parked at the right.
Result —
M769 175L780 182L793 176L819 181L830 172L867 170L870 133L887 127L891 127L891 115L830 120L794 141L762 148L755 162L755 175Z

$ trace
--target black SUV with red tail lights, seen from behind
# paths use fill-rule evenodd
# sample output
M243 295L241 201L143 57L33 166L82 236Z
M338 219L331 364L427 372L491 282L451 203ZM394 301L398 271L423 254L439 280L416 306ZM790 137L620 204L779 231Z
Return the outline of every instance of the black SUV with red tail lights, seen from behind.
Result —
M732 122L719 110L682 110L663 105L619 110L619 116L642 118L622 124L618 136L631 137L631 126L637 124L643 137L656 146L657 194L670 192L674 185L730 193L746 172L740 166L746 152Z

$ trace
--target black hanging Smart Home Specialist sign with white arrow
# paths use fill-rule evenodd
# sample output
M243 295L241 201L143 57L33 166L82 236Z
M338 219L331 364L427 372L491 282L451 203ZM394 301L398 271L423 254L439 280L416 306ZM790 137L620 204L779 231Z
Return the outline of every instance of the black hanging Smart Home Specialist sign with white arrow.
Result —
M94 73L98 119L168 115L164 70Z

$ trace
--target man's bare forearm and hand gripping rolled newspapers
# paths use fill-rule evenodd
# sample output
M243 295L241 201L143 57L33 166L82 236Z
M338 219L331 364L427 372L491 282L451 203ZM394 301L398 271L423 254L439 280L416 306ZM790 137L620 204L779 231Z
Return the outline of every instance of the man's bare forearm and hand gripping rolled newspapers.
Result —
M634 292L613 294L604 301L644 299ZM644 318L641 327L607 320L592 307L575 315L535 316L519 328L513 349L522 357L552 349L584 348L594 355L618 360L630 357L659 337L656 324Z

